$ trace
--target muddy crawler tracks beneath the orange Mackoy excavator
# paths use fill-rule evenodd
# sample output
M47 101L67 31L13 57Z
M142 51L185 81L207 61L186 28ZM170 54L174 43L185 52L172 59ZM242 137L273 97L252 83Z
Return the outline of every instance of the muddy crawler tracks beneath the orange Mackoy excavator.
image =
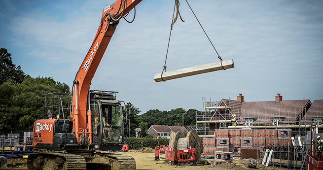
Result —
M115 153L96 153L82 156L69 153L32 153L27 160L28 170L135 170L131 156Z

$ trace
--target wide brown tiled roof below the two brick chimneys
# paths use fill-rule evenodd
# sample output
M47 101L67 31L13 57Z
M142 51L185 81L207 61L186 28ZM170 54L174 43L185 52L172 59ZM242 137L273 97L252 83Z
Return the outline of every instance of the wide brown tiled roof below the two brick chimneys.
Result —
M271 124L272 118L283 117L282 124L294 124L300 113L310 100L293 101L268 101L268 102L239 102L234 100L222 99L227 106L231 107L232 113L239 113L240 124L245 122L246 118L256 118L255 124ZM310 105L309 105L310 106ZM307 106L307 108L309 107Z

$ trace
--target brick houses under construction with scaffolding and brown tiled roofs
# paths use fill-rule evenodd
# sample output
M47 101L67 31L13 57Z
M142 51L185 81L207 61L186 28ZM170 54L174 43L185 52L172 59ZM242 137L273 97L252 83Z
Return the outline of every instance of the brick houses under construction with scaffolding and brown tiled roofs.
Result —
M219 102L203 99L204 111L196 115L197 123L210 128L206 137L214 136L215 129L291 129L292 136L306 135L311 125L323 128L323 100L283 101L277 94L275 101L245 102L239 94L237 100ZM202 137L202 136L201 136Z

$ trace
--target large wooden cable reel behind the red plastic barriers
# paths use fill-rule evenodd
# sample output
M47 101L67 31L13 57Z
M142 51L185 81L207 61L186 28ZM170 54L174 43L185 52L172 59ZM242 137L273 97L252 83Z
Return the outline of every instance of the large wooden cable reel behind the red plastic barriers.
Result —
M201 141L196 131L190 131L186 137L182 132L172 132L169 139L170 146L174 148L175 162L177 160L177 152L179 149L193 149L195 148L195 161L197 162L201 157Z

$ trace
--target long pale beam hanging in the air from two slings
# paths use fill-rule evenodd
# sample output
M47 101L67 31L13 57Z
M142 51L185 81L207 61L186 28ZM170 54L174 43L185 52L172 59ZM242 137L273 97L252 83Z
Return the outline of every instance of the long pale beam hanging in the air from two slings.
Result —
M233 60L222 61L222 66L224 69L234 68ZM182 68L173 71L163 72L163 77L161 77L161 73L154 74L154 79L156 82L172 80L180 77L187 77L196 74L202 74L212 71L217 71L223 69L221 66L221 62L210 63L206 65L194 66L190 68Z

